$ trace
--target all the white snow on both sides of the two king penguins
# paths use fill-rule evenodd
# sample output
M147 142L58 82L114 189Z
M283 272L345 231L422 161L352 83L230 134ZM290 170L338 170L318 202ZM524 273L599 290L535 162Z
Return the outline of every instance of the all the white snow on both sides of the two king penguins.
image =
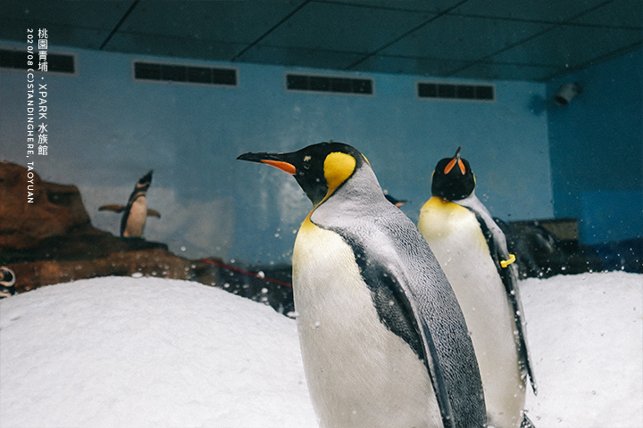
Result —
M521 285L548 427L643 427L643 275ZM106 277L0 300L0 426L314 427L295 321L202 284Z

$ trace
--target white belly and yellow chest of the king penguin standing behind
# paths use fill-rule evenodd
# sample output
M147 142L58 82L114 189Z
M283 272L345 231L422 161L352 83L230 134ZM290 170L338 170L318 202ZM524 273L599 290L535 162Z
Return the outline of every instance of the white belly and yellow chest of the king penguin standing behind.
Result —
M418 228L447 275L472 334L489 425L519 427L525 383L518 364L513 309L478 220L460 206L425 205Z

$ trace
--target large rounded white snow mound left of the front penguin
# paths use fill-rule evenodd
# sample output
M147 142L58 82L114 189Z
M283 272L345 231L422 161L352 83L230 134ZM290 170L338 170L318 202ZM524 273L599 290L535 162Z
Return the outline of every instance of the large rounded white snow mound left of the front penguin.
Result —
M270 307L116 276L0 305L3 427L316 426L296 323Z

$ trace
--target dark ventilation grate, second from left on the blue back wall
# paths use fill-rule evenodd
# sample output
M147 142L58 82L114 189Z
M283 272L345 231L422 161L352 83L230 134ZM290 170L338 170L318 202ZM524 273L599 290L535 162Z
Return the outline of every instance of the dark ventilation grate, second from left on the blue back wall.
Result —
M163 62L133 62L135 80L237 86L237 70Z

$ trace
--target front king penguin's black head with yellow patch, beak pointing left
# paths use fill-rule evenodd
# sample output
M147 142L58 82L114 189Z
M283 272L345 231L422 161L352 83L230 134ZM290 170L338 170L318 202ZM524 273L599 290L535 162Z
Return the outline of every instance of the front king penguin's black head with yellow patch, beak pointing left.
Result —
M366 158L355 147L343 143L319 143L296 152L244 153L240 161L262 162L296 178L306 196L319 204L360 168Z

